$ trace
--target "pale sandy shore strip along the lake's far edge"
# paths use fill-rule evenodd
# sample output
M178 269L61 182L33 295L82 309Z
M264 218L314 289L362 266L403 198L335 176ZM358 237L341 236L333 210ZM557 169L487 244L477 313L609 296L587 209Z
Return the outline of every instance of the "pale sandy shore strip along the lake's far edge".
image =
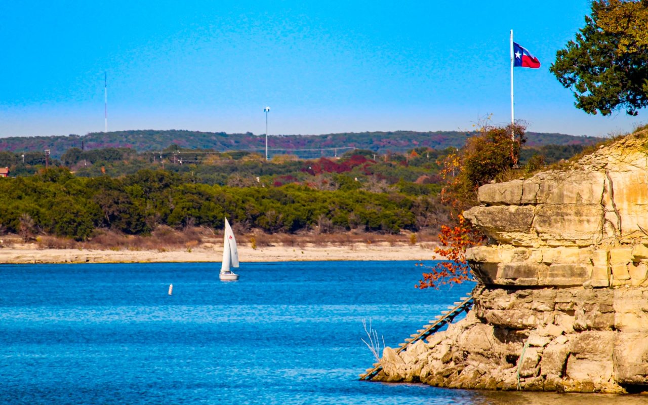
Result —
M240 262L284 262L308 260L432 260L430 246L388 243L350 246L239 246ZM0 248L0 263L136 263L220 262L222 248L205 244L178 251L38 249L35 246Z

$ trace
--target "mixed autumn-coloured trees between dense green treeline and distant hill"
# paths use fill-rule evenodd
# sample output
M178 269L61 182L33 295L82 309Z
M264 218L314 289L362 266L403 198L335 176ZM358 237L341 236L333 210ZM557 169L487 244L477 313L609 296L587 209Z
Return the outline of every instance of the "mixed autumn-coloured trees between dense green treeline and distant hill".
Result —
M550 164L583 152L583 145L546 145L522 148L520 163L530 159ZM251 187L299 183L316 189L338 189L340 185L366 191L387 191L399 187L408 194L434 194L439 187L439 161L455 148L436 150L417 147L403 154L376 154L352 150L336 159L297 159L275 156L266 161L259 154L235 151L187 150L171 145L158 152L137 153L131 148L82 150L70 148L60 159L30 152L0 152L0 167L9 167L11 176L30 176L45 167L67 167L76 176L119 177L139 170L168 170L191 183Z

